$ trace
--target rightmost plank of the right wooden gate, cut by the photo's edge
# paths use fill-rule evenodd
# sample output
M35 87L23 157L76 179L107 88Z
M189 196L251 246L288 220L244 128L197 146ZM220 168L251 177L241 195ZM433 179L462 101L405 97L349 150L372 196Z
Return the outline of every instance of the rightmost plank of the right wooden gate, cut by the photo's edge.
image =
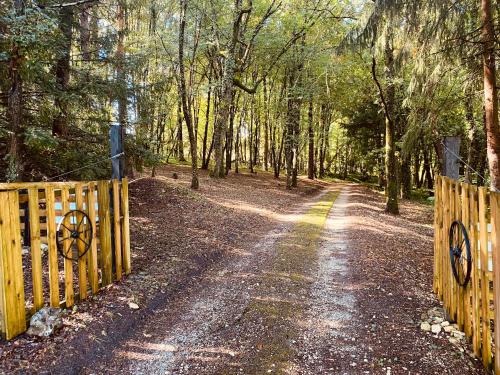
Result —
M500 194L490 193L491 249L493 252L493 306L495 322L495 374L500 374Z

